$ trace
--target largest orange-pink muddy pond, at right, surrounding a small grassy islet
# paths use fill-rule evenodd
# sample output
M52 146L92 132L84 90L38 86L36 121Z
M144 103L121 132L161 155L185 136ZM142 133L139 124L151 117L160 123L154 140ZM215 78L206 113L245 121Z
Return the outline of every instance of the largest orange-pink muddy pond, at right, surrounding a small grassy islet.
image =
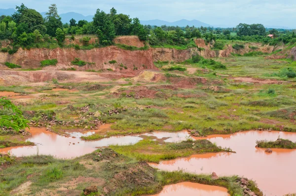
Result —
M230 147L236 154L193 155L151 165L168 171L183 169L193 173L216 172L218 176L244 176L255 180L266 196L296 193L296 150L273 149L273 152L268 154L265 149L255 147L256 140L276 140L279 136L296 141L296 133L278 131L213 135L207 139L218 146Z

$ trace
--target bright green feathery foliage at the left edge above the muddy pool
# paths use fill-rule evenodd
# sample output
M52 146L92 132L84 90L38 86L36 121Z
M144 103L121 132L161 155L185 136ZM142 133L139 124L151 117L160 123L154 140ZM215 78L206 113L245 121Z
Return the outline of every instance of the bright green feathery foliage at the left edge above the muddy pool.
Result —
M29 120L25 119L23 113L10 100L0 98L0 127L12 128L19 131L29 127Z

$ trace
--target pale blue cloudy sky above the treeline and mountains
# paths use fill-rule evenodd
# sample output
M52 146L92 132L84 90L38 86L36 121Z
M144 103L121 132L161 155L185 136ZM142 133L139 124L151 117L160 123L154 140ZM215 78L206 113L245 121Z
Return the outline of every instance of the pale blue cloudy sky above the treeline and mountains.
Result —
M212 26L260 23L296 28L296 0L0 0L0 8L15 8L22 2L39 12L55 3L60 14L73 11L87 16L98 8L109 12L114 7L117 13L140 20L196 19Z

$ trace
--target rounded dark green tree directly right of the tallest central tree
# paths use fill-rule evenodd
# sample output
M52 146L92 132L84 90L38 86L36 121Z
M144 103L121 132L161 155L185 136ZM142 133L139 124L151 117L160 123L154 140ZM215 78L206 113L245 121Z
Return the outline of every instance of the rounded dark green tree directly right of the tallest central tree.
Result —
M116 14L112 17L112 22L117 36L126 36L129 34L132 19L128 15Z

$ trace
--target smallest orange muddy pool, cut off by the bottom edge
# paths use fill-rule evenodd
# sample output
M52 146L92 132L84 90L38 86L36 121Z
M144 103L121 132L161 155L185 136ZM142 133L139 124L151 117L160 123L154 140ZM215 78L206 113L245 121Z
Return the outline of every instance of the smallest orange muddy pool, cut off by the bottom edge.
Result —
M183 182L168 185L153 196L229 196L227 189L217 186L202 185L198 183Z

